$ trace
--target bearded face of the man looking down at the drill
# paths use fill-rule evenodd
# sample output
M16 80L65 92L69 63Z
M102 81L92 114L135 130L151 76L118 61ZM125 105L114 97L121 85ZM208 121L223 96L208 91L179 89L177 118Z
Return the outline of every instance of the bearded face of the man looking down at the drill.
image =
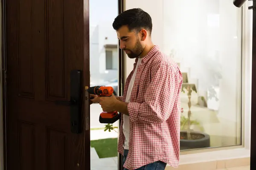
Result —
M122 26L116 31L120 40L120 47L129 58L137 58L143 52L143 45L140 40L140 33L129 31L128 26Z

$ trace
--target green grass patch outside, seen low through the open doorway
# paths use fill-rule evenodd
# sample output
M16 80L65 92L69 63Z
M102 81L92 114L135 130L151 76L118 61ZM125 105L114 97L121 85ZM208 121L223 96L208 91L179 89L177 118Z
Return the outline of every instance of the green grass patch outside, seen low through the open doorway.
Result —
M117 138L99 139L90 141L99 158L109 158L117 156Z

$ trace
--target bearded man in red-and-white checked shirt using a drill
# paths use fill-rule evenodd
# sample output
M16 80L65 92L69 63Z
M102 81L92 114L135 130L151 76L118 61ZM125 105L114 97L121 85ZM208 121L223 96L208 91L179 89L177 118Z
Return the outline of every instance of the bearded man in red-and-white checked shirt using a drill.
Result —
M135 59L124 95L96 97L103 111L122 113L118 152L125 170L164 170L178 167L180 154L180 90L177 64L151 41L148 13L134 8L114 22L120 48Z

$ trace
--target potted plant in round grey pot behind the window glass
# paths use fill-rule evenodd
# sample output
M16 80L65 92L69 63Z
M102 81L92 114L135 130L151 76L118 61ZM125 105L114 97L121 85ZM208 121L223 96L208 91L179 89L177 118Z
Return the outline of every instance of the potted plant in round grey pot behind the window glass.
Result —
M188 114L187 118L185 116L181 116L180 118L180 149L195 149L195 148L204 148L204 147L210 147L210 137L208 134L200 131L193 131L191 129L192 124L199 125L199 122L195 120L191 120L191 94L192 91L195 91L197 93L197 90L195 88L195 84L189 84L189 83L183 83L182 85L182 92L185 93L185 90L187 91L188 96ZM182 111L183 112L183 111ZM183 128L186 127L186 130L183 130Z

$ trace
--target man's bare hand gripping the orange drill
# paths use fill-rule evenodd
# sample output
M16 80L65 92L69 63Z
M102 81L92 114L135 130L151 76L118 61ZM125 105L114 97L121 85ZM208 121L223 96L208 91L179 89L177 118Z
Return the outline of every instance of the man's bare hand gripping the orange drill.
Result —
M96 97L91 99L93 103L99 103L102 107L102 110L105 112L113 112L115 111L115 105L118 101L116 96L112 94L110 97Z

